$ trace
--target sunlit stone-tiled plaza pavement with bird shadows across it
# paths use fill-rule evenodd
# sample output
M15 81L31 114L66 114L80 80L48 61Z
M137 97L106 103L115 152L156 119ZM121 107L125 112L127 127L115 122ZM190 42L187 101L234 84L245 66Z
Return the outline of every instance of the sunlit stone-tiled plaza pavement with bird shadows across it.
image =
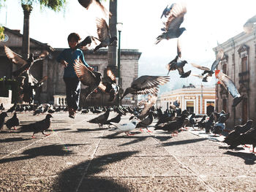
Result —
M110 112L110 117L116 116ZM10 114L10 117L12 115ZM87 121L94 114L53 113L41 133L1 132L0 191L254 191L255 155L229 150L200 131L116 135ZM18 114L22 124L45 115ZM129 115L122 117L127 122ZM201 133L201 134L200 134ZM211 139L215 138L215 139ZM252 150L252 148L250 149Z

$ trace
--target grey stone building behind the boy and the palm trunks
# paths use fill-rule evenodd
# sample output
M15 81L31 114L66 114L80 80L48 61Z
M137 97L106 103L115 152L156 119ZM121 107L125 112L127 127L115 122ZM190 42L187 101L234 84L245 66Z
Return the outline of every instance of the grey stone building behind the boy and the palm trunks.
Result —
M7 42L0 42L0 78L6 76L12 79L12 71L17 69L17 66L7 58L4 53L4 45L10 47L15 53L21 55L22 47L22 34L17 30L10 30L5 28L4 34L9 37ZM35 56L42 53L43 50L48 50L50 47L48 44L38 42L31 39L30 53L34 53ZM65 84L63 80L64 69L61 64L56 62L56 57L61 53L64 48L56 48L53 53L50 53L50 58L39 61L31 66L31 74L37 79L41 80L42 77L48 76L48 80L42 85L42 88L36 93L35 100L39 103L47 103L54 101L56 96L64 96L66 93ZM106 72L108 66L108 50L98 50L97 53L93 53L91 50L83 50L85 60L89 66L93 66L94 69L103 74ZM132 81L138 77L138 60L141 53L138 50L121 50L121 88L125 90ZM83 92L86 86L81 86L80 104L84 105L110 105L108 103L108 95L105 93L92 93L92 95L83 100ZM63 102L62 102L63 104ZM113 103L112 103L113 104ZM127 95L123 99L122 104L137 105L137 96Z

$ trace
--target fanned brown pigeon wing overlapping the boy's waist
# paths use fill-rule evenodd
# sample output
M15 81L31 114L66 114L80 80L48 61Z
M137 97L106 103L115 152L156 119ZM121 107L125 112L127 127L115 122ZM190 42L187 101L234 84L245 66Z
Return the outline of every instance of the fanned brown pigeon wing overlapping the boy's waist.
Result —
M89 86L96 81L95 74L91 72L91 70L89 70L88 67L85 66L82 61L80 61L80 59L75 60L74 69L83 85Z

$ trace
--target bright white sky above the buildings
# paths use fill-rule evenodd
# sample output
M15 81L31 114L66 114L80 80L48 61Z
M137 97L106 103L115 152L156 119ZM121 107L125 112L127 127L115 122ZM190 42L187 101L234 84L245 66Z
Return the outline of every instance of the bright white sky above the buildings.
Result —
M68 1L68 0L67 0ZM142 52L139 75L167 74L165 66L176 56L176 39L162 40L154 45L161 34L160 16L167 4L179 1L118 0L118 22L124 23L121 32L121 48ZM184 2L184 1L182 1ZM181 35L182 60L211 66L215 55L213 47L243 31L247 19L256 15L255 0L193 0L187 2L187 14ZM108 7L108 2L105 3ZM6 19L7 15L7 19ZM34 6L31 12L30 37L52 47L68 47L67 36L77 32L82 38L95 32L95 12L84 9L77 0L69 0L66 12L43 11ZM11 29L23 31L23 10L17 0L7 0L7 7L0 9L0 23ZM185 72L192 69L185 66ZM200 72L193 69L192 72ZM171 72L171 77L178 77ZM191 77L192 78L192 77ZM195 77L194 77L195 78ZM193 79L195 80L195 79ZM197 80L197 79L196 79ZM181 80L188 83L191 80ZM198 82L200 80L198 79Z

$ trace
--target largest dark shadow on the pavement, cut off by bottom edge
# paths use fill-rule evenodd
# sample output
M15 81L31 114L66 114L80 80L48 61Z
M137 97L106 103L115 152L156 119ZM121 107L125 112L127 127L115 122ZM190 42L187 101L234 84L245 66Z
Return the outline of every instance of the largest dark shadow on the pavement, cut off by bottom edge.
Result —
M93 160L84 161L59 174L58 180L53 184L54 191L131 191L127 186L121 185L112 178L94 176L105 170L104 166L114 164L138 151L112 153L102 155ZM88 167L89 166L89 167Z

